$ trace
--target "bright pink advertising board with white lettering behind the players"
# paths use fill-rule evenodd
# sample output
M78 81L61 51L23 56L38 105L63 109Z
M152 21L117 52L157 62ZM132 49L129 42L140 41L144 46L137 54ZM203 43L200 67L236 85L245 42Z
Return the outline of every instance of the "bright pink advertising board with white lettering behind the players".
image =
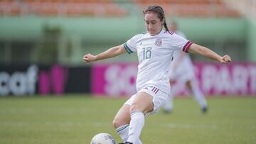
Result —
M194 63L198 84L208 96L256 96L256 63ZM136 93L137 63L109 63L92 66L91 92L96 96L131 96ZM172 87L186 96L181 82Z

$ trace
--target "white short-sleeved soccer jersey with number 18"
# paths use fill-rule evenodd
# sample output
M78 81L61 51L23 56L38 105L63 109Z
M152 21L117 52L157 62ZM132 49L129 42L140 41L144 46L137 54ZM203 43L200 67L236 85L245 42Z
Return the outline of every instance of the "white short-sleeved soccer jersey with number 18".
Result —
M137 92L146 85L159 87L169 94L169 70L175 50L187 52L192 43L175 33L162 30L158 35L138 34L124 43L128 53L137 52L139 65Z

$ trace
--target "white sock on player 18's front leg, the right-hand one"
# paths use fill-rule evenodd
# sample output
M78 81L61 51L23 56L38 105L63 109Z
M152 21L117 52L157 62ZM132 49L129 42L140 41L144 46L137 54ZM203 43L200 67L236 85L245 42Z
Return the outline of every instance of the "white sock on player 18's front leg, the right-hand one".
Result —
M142 133L142 128L144 126L145 116L142 111L134 111L131 113L131 121L129 125L129 138L128 142L133 144L140 144L142 143L139 140L139 136Z

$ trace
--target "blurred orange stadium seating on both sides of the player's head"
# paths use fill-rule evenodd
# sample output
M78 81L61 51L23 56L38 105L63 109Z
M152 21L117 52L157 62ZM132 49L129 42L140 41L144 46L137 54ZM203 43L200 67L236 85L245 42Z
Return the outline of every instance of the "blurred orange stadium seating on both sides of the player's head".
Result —
M128 2L128 1L127 1ZM134 0L142 9L158 4L171 16L238 17L239 11L223 0ZM125 16L127 11L112 0L1 0L1 15Z

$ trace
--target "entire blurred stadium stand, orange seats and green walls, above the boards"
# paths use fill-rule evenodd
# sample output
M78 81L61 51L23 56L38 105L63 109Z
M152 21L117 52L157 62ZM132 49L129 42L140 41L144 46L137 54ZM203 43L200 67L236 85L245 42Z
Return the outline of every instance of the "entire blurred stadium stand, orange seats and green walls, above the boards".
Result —
M256 61L254 0L0 0L0 63L82 65L85 53L142 33L142 11L152 4L193 42L236 61Z

